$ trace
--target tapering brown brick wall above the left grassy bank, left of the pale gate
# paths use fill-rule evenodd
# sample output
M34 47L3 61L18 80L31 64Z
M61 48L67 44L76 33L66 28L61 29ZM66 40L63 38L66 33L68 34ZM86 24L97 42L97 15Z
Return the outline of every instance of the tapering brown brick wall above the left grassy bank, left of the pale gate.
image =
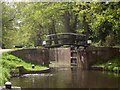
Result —
M20 57L26 61L49 65L48 49L22 49L11 52L13 55Z

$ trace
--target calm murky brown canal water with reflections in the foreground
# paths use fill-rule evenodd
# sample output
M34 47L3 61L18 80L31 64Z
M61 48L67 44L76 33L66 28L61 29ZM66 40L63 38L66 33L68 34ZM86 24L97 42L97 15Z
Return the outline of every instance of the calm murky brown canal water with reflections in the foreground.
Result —
M79 68L51 68L50 73L26 74L11 78L22 88L120 88L120 75Z

